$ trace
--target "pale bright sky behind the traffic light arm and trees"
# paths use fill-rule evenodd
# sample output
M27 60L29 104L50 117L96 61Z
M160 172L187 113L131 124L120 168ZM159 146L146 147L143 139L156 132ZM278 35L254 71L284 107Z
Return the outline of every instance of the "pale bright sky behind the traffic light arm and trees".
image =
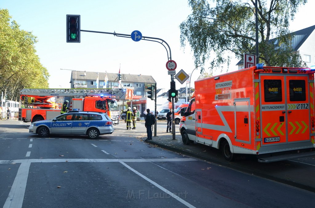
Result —
M142 36L163 39L177 63L176 73L193 71L191 87L201 75L200 69L194 70L190 47L180 47L179 25L191 14L187 0L0 0L0 8L9 10L20 29L37 36L36 54L50 74L49 88L70 88L70 70L118 73L119 68L122 74L151 75L157 88L169 89L170 85L168 55L162 44L91 32L81 32L81 43L67 43L66 14L81 16L81 30L129 35L139 30ZM315 1L309 0L289 29L314 25L313 8ZM228 71L237 70L238 61L232 59ZM185 86L186 82L176 81L177 89Z

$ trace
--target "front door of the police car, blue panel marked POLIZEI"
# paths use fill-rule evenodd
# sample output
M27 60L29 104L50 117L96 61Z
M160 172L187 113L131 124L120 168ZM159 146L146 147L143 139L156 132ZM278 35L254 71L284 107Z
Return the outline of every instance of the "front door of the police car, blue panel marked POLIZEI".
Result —
M53 134L71 133L72 115L73 114L71 113L70 114L65 113L57 117L56 121L52 121L50 128L51 133Z

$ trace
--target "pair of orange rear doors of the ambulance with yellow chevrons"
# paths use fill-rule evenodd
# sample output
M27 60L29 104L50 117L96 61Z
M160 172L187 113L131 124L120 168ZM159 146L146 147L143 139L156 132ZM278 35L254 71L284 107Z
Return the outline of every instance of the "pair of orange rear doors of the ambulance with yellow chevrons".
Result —
M295 149L299 145L293 143L310 141L308 76L260 74L260 80L261 146Z

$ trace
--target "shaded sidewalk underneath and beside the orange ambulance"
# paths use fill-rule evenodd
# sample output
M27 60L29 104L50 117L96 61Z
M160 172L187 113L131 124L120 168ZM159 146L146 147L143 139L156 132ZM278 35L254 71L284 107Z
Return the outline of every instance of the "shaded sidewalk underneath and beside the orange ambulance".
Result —
M143 139L145 138L146 136ZM293 161L260 163L252 155L240 155L235 161L227 161L218 149L198 143L184 145L178 128L176 128L175 140L170 133L157 132L157 136L154 136L153 132L152 140L146 142L183 155L315 192L315 171L314 166L311 165L305 166Z

